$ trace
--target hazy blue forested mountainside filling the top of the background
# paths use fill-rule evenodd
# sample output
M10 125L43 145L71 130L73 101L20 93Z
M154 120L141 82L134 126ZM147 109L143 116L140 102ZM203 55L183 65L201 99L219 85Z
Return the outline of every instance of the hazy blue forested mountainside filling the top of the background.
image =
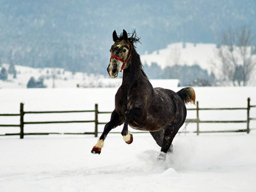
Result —
M256 1L0 0L0 63L105 74L112 32L136 29L138 52L173 42L216 43L256 31Z

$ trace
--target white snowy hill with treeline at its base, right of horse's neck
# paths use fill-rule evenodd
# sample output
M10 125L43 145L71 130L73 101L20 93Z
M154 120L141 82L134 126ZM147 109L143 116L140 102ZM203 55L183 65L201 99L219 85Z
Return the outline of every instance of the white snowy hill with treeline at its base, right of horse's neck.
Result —
M214 83L209 83L211 86L227 86L231 82L224 81L223 79L221 68L218 67L220 66L220 58L218 58L217 52L216 44L179 42L170 44L166 48L156 50L151 54L142 54L141 63L144 65L145 72L150 78L179 79L180 86L195 86L194 84L189 84L193 79L210 82L214 80L212 81ZM256 56L254 55L253 57L255 58ZM248 85L256 85L255 74L256 69L253 69Z

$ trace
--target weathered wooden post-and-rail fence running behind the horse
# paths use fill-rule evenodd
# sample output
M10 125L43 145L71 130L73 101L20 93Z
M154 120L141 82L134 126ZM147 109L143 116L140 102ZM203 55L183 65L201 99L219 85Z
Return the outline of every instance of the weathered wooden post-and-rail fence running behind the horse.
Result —
M196 111L195 119L187 119L185 125L187 126L190 123L196 124L196 134L202 132L250 132L250 120L256 120L256 118L250 117L250 109L256 108L256 106L250 105L250 98L247 99L246 108L199 108L198 101L196 102L196 108L189 108L188 111ZM199 111L208 111L208 110L246 110L247 118L246 120L200 120ZM95 113L95 118L93 120L73 120L73 121L45 121L45 122L25 122L24 115L26 114L43 114L43 113ZM98 104L95 104L95 109L93 110L84 110L84 111L24 111L24 104L20 103L20 113L16 114L0 114L0 116L20 116L20 124L0 124L0 127L20 127L19 133L6 133L0 134L0 136L10 136L10 135L19 135L20 139L24 138L24 135L36 135L36 134L94 134L95 137L98 136L98 125L106 124L106 122L99 122L99 114L111 113L111 111L99 111ZM34 133L25 133L24 125L28 124L71 124L71 123L94 123L95 129L94 132L83 132L83 133L60 133L60 132L34 132ZM204 123L218 124L218 123L246 123L244 129L233 130L233 131L200 131L199 125Z

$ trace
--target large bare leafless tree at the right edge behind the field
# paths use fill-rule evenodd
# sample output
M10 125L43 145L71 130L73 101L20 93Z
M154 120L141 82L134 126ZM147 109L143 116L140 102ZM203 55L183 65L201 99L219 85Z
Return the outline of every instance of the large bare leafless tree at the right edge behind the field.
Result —
M230 29L223 33L221 46L217 51L220 70L234 86L246 86L256 66L252 32L242 28L241 31Z

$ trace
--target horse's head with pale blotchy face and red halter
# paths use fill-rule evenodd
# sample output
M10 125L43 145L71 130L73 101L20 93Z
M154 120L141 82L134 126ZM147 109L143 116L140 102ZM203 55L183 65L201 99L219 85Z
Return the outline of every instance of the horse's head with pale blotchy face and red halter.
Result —
M115 44L113 44L110 49L111 57L108 65L108 74L110 77L115 78L118 76L118 72L121 72L129 66L132 44L129 42L125 30L123 30L122 36L119 37L116 35L116 31L114 31L113 41Z

